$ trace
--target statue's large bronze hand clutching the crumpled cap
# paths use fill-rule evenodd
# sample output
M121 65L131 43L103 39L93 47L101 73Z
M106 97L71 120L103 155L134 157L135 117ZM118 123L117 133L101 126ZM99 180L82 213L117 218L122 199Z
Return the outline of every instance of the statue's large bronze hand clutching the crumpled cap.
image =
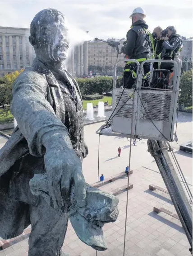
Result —
M73 149L54 143L46 148L44 156L48 191L55 209L68 212L71 205L71 190L79 207L85 205L85 180L82 163Z

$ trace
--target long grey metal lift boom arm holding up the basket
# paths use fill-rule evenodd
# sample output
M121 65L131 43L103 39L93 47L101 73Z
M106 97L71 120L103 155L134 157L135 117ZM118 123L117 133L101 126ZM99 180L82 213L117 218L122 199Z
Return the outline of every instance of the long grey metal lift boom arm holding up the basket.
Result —
M154 157L160 170L165 186L170 194L175 210L191 246L193 246L193 218L192 209L184 192L182 184L171 162L168 147L163 141L147 140L148 152Z

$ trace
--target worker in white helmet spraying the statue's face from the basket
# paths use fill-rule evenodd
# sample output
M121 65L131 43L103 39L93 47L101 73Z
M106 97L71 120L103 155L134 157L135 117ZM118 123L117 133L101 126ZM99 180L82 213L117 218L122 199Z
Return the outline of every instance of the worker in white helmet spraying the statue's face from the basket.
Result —
M143 20L146 17L145 10L138 7L133 10L130 15L132 26L127 32L127 43L119 44L117 47L119 53L123 52L129 59L136 59L139 63L149 58L150 46L153 38L147 31L148 25ZM148 86L147 73L150 71L150 63L144 64L144 83ZM123 85L125 88L132 88L135 78L137 77L137 64L134 62L126 62L124 67Z

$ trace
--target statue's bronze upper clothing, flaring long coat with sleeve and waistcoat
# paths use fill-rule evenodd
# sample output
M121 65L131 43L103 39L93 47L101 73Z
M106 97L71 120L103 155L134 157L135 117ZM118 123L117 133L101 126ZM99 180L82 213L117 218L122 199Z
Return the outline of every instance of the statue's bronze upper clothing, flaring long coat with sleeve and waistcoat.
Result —
M37 162L43 163L43 134L63 129L81 161L87 154L82 97L68 71L51 71L35 59L32 67L26 68L14 82L11 110L18 127L0 149L0 237L4 239L18 236L30 224L22 187L25 182L28 186ZM28 172L26 178L23 170Z

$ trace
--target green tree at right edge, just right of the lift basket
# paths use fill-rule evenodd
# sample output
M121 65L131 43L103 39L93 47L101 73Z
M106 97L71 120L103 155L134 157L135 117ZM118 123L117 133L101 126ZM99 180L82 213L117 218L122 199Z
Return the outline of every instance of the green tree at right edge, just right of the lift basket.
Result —
M179 95L180 104L192 106L193 104L193 70L190 69L184 72L180 78L179 88L181 89Z

